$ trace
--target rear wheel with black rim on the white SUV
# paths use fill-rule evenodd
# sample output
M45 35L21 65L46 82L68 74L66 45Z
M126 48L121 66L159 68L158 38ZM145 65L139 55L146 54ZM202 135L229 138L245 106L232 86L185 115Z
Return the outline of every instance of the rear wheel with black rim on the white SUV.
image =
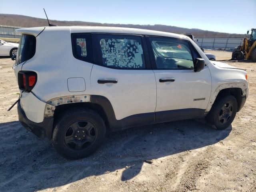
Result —
M67 159L80 159L95 152L103 143L106 126L98 113L89 108L64 112L52 133L52 145Z

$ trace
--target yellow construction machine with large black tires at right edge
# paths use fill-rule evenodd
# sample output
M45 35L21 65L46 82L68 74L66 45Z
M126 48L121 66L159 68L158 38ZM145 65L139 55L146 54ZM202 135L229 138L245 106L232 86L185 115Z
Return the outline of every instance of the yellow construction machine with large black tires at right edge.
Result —
M256 29L247 31L247 34L251 31L249 37L245 37L242 46L237 46L232 52L232 60L250 59L256 62Z

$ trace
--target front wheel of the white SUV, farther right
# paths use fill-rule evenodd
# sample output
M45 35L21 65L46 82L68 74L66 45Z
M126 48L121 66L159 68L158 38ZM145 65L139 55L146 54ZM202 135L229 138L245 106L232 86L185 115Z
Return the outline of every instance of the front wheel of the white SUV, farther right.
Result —
M229 109L229 110L228 110ZM223 130L230 126L237 112L237 101L232 95L218 98L214 102L206 121L217 130Z

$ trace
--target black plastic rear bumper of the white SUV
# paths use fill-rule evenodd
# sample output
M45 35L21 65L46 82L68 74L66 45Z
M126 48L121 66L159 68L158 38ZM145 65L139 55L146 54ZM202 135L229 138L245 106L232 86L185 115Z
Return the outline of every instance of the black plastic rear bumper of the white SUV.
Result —
M53 118L44 118L42 122L35 123L26 117L20 102L18 102L17 109L19 121L26 128L26 130L34 133L39 138L52 138Z

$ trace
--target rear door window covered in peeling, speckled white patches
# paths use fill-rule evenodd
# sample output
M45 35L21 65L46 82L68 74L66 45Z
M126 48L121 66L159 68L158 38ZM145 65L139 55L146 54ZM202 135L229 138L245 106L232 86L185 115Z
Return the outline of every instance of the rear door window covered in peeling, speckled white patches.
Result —
M102 65L111 68L145 68L140 36L98 35Z

